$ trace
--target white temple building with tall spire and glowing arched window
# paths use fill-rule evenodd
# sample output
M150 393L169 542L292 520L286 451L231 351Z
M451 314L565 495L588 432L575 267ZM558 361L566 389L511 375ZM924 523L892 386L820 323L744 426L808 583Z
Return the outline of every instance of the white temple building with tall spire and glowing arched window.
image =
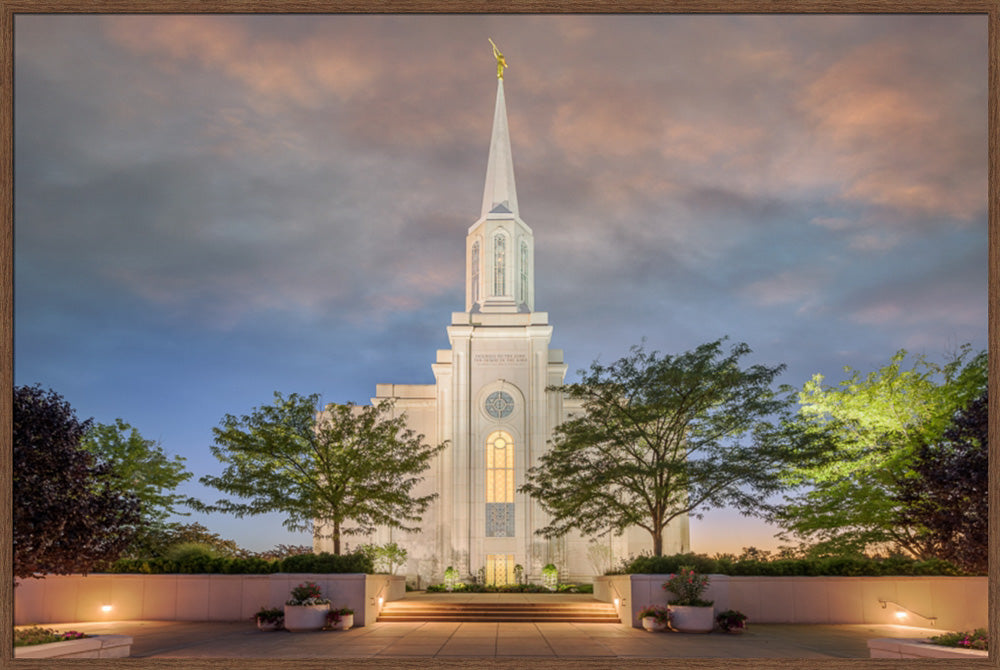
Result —
M502 58L502 57L501 57ZM498 68L502 72L500 68ZM566 365L550 349L548 314L535 310L535 241L514 186L503 78L498 76L493 133L479 218L466 234L465 310L451 315L449 349L437 352L433 384L378 384L372 403L395 401L397 414L429 444L447 442L414 495L437 493L419 533L380 529L352 545L397 542L408 581L440 583L444 570L487 583L512 583L521 565L541 581L547 563L562 582L589 582L622 558L652 549L643 529L620 537L577 534L548 540L538 503L517 492L553 429L580 407L546 387L564 382ZM688 519L664 530L664 554L690 550ZM316 551L332 540L315 538Z

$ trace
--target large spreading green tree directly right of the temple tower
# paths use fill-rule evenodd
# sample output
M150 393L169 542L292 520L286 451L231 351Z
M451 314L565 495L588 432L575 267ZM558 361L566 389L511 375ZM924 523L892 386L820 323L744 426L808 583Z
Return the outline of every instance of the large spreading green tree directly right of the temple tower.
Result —
M816 440L780 420L791 401L771 383L784 365L741 369L750 348L740 343L726 354L724 339L679 356L632 347L553 389L581 400L584 414L555 429L552 448L519 489L551 515L539 534L577 528L600 536L639 526L660 556L663 530L678 517L721 506L766 509L782 470Z

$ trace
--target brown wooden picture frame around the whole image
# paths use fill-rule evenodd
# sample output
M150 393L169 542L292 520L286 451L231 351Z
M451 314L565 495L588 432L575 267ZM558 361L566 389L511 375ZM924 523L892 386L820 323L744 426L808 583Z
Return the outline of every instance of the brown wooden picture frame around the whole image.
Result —
M988 15L989 26L989 312L988 342L1000 342L1000 0L613 0L584 2L581 0L507 0L504 3L462 2L446 0L0 0L0 660L7 666L13 655L13 579L12 565L12 513L11 513L11 389L13 385L13 24L19 13L976 13ZM993 348L993 347L991 347ZM990 395L1000 398L1000 359L995 351L990 356ZM994 650L986 663L976 667L1000 667L1000 403L990 411L990 593L989 621L990 646ZM14 667L49 667L45 662L19 661ZM316 661L274 659L121 659L116 661L82 662L87 667L156 667L156 668L315 668ZM478 659L475 663L462 663L437 658L412 658L405 661L350 659L347 662L331 659L323 667L355 668L417 668L417 667L522 667L523 661L511 659ZM808 668L837 670L840 668L899 668L899 662L883 660L823 660L796 659L637 659L622 662L620 659L586 661L556 659L539 663L545 668ZM940 662L906 662L908 668L937 668ZM957 667L957 666L956 666ZM962 667L971 667L963 664Z

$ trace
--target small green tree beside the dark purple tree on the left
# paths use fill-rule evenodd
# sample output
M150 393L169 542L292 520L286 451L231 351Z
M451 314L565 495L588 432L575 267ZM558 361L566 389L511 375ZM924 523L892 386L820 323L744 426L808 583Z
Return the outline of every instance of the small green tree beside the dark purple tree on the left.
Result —
M174 493L177 486L191 478L184 469L184 458L168 458L159 443L147 440L121 419L113 424L95 424L84 436L81 446L111 466L110 477L116 485L139 498L143 525L162 525L186 504L187 496Z

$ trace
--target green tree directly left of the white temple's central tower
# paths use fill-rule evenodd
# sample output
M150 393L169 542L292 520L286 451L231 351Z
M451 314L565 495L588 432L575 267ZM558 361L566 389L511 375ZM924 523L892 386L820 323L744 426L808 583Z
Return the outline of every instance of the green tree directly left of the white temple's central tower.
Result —
M212 453L227 467L201 482L248 502L219 500L206 510L284 512L286 528L314 528L333 540L335 554L344 535L377 526L419 530L412 524L436 494L411 491L443 444L424 444L404 416L393 417L390 402L331 404L318 413L319 395L274 398L248 415L227 414L214 429Z

